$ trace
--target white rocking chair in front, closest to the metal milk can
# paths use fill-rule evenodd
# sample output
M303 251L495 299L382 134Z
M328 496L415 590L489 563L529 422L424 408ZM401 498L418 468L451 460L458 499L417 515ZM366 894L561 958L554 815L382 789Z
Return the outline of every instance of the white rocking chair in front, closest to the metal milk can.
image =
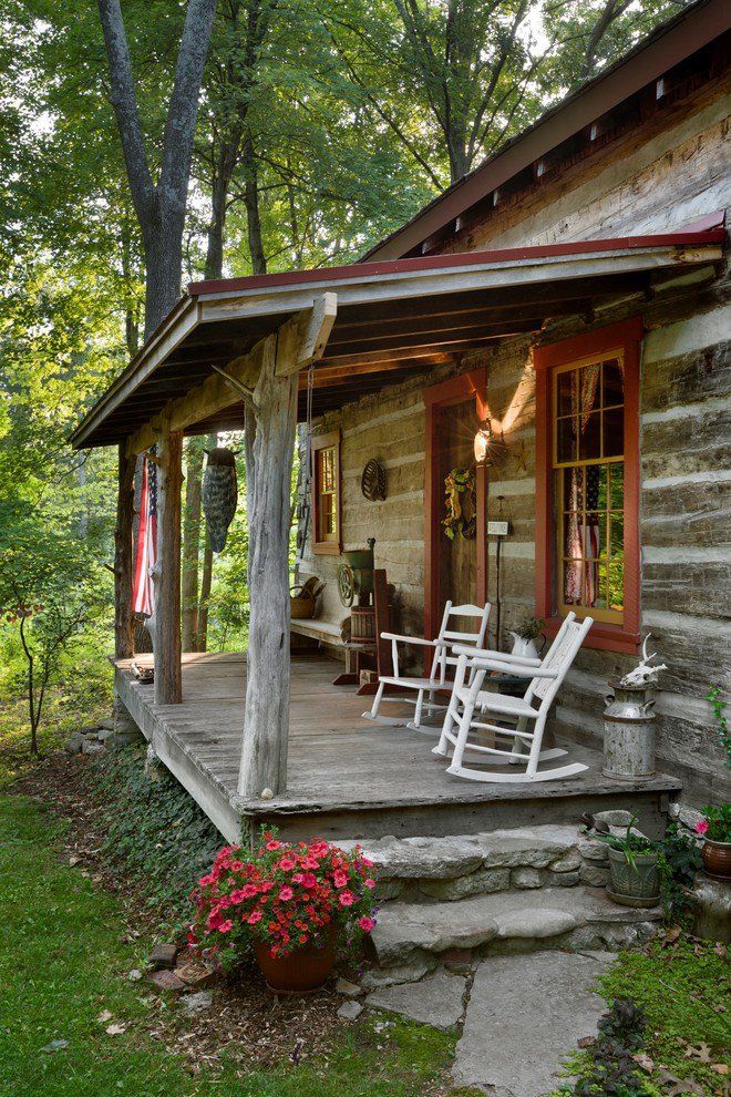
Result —
M442 736L439 745L433 748L433 753L442 757L447 756L450 747L454 748L447 773L486 783L529 783L575 777L588 769L580 762L574 762L554 769L538 770L538 763L567 755L566 750L557 747L542 750L543 731L548 709L593 624L591 617L577 622L576 614L569 613L543 660L534 666L521 665L495 652L478 652L463 646L453 648L454 654L459 656L454 689L444 717ZM488 670L525 678L527 689L524 696L508 697L483 690ZM467 674L470 680L465 684ZM462 711L460 711L461 706L463 706ZM481 714L494 714L495 720L511 721L516 726L512 728L501 727L497 724L483 724L475 719L475 709ZM529 722L533 722L533 731L527 730ZM469 742L473 729L492 731L496 739L498 737L512 739L512 746L487 747L478 742ZM525 765L525 772L501 773L470 769L463 763L465 750L486 756L483 758L486 765Z

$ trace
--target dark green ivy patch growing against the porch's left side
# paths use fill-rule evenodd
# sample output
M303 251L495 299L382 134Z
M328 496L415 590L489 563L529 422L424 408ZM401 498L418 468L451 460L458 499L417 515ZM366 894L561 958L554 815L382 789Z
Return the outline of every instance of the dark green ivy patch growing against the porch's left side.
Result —
M111 748L100 762L95 794L104 809L104 852L142 884L152 909L179 924L220 834L172 773L162 766L154 780L145 773L144 756L144 748Z

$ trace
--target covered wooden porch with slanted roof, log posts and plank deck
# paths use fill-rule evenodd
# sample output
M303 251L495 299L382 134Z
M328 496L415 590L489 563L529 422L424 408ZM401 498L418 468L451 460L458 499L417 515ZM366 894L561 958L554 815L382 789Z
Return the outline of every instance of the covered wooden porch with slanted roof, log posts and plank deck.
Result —
M645 829L657 829L668 794L679 788L673 778L611 781L601 775L599 752L575 742L574 757L586 753L581 760L588 763L578 778L475 787L446 775L423 736L361 720L363 699L332 685L339 664L317 656L290 665L295 427L308 404L322 416L402 380L423 378L426 386L435 372L469 387L465 353L517 335L538 344L546 325L562 317L591 321L628 299L702 285L714 276L722 240L723 229L703 226L189 287L72 442L80 449L119 447L117 696L223 833L236 838L258 822L291 835L465 833L473 827L575 821L599 803L639 807L647 813ZM490 417L490 392L475 394ZM248 653L182 654L183 438L237 428L245 430L247 464ZM134 471L138 455L153 445L155 681L145 686L130 670ZM480 546L490 484L485 470L477 471ZM425 491L436 474L428 460ZM423 544L421 628L429 636L439 615L436 529ZM485 584L478 567L480 603L486 601Z

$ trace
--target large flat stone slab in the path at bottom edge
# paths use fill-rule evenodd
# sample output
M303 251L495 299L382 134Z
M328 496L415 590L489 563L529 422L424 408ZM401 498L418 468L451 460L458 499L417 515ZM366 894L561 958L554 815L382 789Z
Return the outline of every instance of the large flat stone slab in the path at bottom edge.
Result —
M593 990L608 960L564 952L490 956L475 973L453 1075L493 1097L544 1097L606 1011Z

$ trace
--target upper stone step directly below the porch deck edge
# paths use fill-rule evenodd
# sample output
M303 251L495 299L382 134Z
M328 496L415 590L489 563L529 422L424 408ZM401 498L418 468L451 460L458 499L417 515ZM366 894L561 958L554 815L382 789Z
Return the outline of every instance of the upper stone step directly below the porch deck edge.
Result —
M604 812L608 823L625 812ZM620 820L621 822L621 820ZM354 842L339 842L352 848ZM607 848L577 827L543 826L450 838L361 843L375 867L377 898L459 901L513 889L603 886Z

